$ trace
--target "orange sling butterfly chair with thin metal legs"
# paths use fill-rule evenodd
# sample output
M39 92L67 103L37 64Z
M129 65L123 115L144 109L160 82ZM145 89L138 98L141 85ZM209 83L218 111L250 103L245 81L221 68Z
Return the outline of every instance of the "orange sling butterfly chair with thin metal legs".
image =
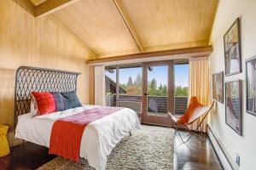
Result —
M190 99L190 103L189 103L189 108L187 109L187 111L185 112L185 114L183 116L180 117L176 117L176 116L172 116L171 113L168 113L169 116L171 116L172 121L175 122L175 133L178 133L179 137L182 139L183 143L186 143L189 141L189 139L195 135L196 131L198 130L199 127L201 127L202 122L204 122L205 118L207 117L207 114L211 111L212 106L214 105L215 101L212 102L212 105L206 106L206 105L201 105L198 100L196 99L196 97L192 97ZM202 117L201 122L199 122L198 126L195 128L195 130L190 130L188 125L193 124L196 120L199 120L199 118ZM190 133L190 136L187 140L183 140L181 134L179 133L177 127L178 125L184 126ZM196 135L195 137L197 139L199 139L201 142L203 142L202 140L202 131L201 131L201 139L198 138Z

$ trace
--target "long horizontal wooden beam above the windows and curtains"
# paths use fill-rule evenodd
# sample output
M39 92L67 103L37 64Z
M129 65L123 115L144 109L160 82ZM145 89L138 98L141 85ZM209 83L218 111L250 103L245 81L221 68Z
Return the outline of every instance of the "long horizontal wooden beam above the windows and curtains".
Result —
M147 59L147 58L154 58L166 55L184 55L188 54L189 57L202 57L207 56L212 53L212 46L201 46L195 48L177 48L177 49L168 49L162 51L154 51L154 52L145 52L140 54L127 54L127 55L120 55L102 59L89 59L87 60L87 64L94 65L97 63L104 63L104 62L112 62L112 61L119 61L119 60L127 60L127 59Z

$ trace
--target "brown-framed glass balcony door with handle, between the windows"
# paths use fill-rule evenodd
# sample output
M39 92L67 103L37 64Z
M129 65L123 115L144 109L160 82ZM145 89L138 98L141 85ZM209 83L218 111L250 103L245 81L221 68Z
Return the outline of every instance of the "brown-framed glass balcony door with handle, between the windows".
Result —
M167 112L173 113L173 61L143 64L143 122L172 126Z

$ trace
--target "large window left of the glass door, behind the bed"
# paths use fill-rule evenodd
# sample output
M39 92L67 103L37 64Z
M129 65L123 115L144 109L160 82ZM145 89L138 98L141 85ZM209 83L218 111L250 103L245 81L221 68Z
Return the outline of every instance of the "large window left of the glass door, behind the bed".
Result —
M118 74L117 74L118 73ZM117 80L119 79L119 83ZM142 112L143 67L119 65L105 68L106 105ZM116 89L119 89L116 93Z

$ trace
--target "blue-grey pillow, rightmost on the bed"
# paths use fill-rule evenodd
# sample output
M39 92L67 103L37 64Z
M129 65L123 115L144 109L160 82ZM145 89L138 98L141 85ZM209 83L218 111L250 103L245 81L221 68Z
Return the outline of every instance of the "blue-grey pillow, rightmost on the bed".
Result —
M65 92L61 95L64 97L65 110L82 106L75 92Z

